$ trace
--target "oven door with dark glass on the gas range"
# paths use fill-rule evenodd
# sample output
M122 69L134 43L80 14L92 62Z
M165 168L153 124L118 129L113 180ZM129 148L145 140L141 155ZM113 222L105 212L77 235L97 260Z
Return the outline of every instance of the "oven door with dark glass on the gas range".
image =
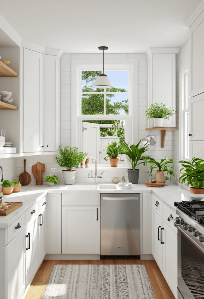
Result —
M178 228L178 299L204 298L204 249L188 231Z

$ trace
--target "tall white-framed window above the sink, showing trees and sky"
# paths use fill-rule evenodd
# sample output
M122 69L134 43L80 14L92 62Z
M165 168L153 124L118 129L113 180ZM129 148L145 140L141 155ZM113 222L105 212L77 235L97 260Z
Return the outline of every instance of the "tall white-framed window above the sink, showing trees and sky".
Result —
M101 59L72 59L71 140L72 146L88 152L88 157L96 157L97 164L110 166L110 161L103 159L108 143L137 141L137 118L132 118L133 111L137 115L137 59L105 61L108 64L104 73L113 86L111 89L93 87L101 74ZM127 158L123 155L118 158L119 166L128 166Z

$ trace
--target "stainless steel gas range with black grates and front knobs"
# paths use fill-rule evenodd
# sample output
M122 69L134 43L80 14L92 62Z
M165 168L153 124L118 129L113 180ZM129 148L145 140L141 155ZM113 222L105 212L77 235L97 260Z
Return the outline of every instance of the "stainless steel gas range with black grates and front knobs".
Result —
M178 299L204 298L204 202L175 202Z

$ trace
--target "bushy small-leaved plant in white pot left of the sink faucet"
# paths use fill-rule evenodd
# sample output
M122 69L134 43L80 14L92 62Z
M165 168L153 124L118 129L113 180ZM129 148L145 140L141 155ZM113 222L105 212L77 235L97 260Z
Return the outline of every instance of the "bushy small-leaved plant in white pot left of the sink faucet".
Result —
M78 152L77 147L62 147L59 146L59 157L55 157L56 163L65 168L62 170L64 184L71 185L74 184L76 170L73 170L74 167L78 167L78 165L83 162L84 158L87 156L87 153Z

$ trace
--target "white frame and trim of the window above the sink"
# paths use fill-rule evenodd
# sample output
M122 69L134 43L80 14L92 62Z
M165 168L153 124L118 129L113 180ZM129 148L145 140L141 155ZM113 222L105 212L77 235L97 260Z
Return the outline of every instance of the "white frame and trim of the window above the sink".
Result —
M125 142L138 143L138 59L137 58L106 58L105 71L128 70L128 100L129 115L81 115L81 71L102 71L101 58L71 59L71 146L77 146L82 151L82 120L125 120ZM114 92L113 92L114 93ZM119 92L120 93L120 92ZM136 115L136 117L134 117ZM99 164L109 167L107 164ZM119 167L129 167L126 159Z

